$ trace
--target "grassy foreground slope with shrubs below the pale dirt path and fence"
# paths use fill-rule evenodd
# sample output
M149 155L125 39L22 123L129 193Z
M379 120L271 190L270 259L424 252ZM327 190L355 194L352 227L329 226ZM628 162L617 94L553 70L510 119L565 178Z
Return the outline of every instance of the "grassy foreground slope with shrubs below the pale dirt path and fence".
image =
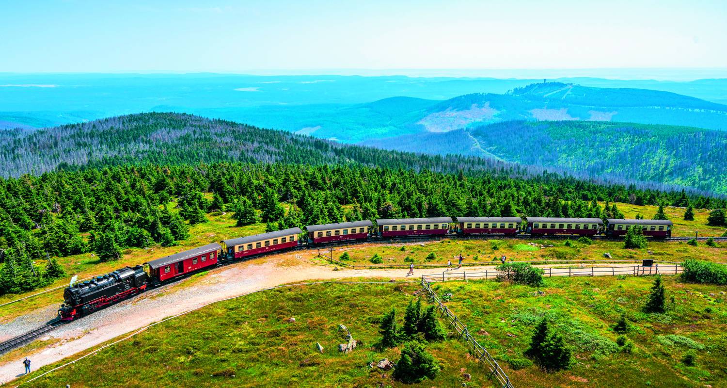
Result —
M722 386L727 288L665 277L667 312L645 314L640 307L652 280L552 278L540 288L479 280L437 283L435 290L440 296L452 294L449 308L501 360L515 387L614 387L616 381L624 387ZM383 284L263 291L156 325L27 386L404 387L390 373L382 377L370 370L368 363L398 360L399 349L374 347L377 320L390 306L401 318L418 289L416 284ZM616 345L611 330L621 312L630 320L630 354ZM510 365L522 363L533 327L545 314L574 347L575 365L555 373L532 365L515 370ZM286 322L290 317L296 322ZM343 343L337 333L341 323L361 341L348 355L336 349ZM324 354L318 354L316 342ZM450 338L429 349L443 371L434 381L411 387L460 387L462 371L473 376L468 387L491 386L486 369L461 341ZM692 366L682 362L687 352L696 354ZM220 371L235 376L212 376Z

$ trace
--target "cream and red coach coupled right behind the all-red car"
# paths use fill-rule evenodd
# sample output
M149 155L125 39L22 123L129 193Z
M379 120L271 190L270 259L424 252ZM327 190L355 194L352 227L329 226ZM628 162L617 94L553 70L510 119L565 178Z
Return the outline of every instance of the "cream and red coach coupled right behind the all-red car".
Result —
M253 236L225 239L220 242L220 245L222 245L222 251L227 254L228 260L233 260L297 247L298 235L302 232L300 228L269 231Z

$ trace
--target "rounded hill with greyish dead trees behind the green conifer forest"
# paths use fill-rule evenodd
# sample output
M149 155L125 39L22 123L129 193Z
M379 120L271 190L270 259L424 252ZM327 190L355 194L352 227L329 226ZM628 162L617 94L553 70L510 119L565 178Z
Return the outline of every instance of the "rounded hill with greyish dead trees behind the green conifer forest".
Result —
M41 130L0 131L0 176L40 174L57 167L212 162L361 164L454 173L507 170L517 165L477 157L441 157L347 146L189 114L148 113ZM539 173L539 170L537 170Z

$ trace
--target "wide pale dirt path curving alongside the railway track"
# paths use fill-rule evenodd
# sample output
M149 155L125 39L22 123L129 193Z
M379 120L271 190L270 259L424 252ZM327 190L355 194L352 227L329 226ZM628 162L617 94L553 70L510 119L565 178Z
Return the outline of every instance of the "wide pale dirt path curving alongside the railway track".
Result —
M150 290L142 294L142 296L121 302L53 330L48 336L41 339L57 338L59 341L55 341L49 347L34 351L28 357L33 362L33 370L36 370L41 366L63 360L65 357L94 347L121 334L129 333L152 322L162 320L164 317L170 317L213 301L285 283L352 277L419 280L419 276L422 274L441 274L442 271L442 269L417 269L414 276L410 277L406 277L408 269L343 269L334 271L334 266L316 264L316 261L312 260L313 256L312 250L270 256L260 260L214 269L201 277L193 277ZM469 274L485 270L492 271L493 269L493 265L470 266L466 268L466 271ZM590 272L590 267L582 269L582 271L584 274ZM453 269L451 272L461 273L462 269ZM0 327L0 336L8 336L11 331L15 332L21 324L29 325L29 322L33 320L46 320L48 317L44 316L44 312L48 309L30 312L7 325L3 325ZM53 309L55 311L55 306L53 306ZM40 325L40 322L37 325ZM32 328L33 326L25 327ZM21 361L25 356L19 355L17 359L5 360L0 365L0 384L22 376L22 374L18 373L23 371Z

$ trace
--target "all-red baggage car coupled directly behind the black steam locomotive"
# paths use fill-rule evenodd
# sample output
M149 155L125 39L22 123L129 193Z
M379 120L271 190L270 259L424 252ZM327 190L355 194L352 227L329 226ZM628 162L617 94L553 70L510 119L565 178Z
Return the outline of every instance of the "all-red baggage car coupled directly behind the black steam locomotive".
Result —
M204 247L185 250L156 260L144 263L145 272L153 282L164 282L174 277L182 276L217 264L217 254L220 253L220 244L213 242Z

